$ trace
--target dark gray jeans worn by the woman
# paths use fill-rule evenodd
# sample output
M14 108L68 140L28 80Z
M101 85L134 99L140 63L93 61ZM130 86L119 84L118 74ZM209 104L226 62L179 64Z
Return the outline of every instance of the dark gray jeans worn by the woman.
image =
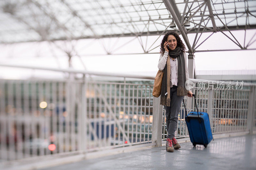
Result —
M164 106L168 132L166 138L174 137L175 130L177 129L178 115L182 99L183 96L177 96L177 86L171 87L171 105L170 107Z

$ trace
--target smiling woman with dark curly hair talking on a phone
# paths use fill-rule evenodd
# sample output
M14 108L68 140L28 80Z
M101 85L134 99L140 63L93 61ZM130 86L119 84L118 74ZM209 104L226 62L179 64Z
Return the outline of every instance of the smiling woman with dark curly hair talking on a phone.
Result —
M174 138L177 128L178 114L183 96L192 97L192 92L186 90L185 82L188 80L187 54L185 45L179 35L169 32L164 35L161 42L161 55L158 69L164 70L160 103L166 111L166 150L173 152L179 149L180 144Z

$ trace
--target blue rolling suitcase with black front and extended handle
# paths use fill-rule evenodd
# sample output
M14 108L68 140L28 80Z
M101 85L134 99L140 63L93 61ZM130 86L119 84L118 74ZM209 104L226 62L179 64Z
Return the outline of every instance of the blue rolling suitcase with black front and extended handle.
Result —
M195 95L193 94L194 98ZM184 103L184 99L183 99ZM196 103L196 98L195 98ZM188 133L190 137L190 141L194 146L196 144L203 144L204 147L207 147L212 140L212 130L210 126L209 116L205 112L198 112L198 108L196 105L197 112L190 112L187 115L187 110L184 103L184 108L186 112L185 121L188 127Z

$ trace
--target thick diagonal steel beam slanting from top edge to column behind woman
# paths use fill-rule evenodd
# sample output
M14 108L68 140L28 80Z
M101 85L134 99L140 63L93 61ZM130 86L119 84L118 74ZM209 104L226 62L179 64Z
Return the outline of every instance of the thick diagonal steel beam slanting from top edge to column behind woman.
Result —
M177 15L176 15L174 9L172 8L172 5L171 5L170 1L169 1L169 0L163 0L163 2L164 2L164 4L165 4L166 8L168 9L168 11L170 11L170 13L172 14L172 18L174 19L175 23L177 24L177 26L178 26L178 28L179 28L179 30L180 30L180 33L181 33L181 35L182 35L182 37L183 37L185 43L187 44L189 53L192 54L193 49L192 49L192 47L191 47L191 45L190 45L190 43L189 43L189 41L188 41L188 36L187 36L187 34L185 33L183 27L181 26L180 20L179 20L179 18L177 17Z

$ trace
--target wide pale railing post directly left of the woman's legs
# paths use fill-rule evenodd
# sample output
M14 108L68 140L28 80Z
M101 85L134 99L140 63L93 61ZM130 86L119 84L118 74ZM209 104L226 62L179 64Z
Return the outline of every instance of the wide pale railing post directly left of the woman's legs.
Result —
M153 132L152 141L156 142L156 146L162 146L162 119L163 111L160 105L160 97L153 97Z

